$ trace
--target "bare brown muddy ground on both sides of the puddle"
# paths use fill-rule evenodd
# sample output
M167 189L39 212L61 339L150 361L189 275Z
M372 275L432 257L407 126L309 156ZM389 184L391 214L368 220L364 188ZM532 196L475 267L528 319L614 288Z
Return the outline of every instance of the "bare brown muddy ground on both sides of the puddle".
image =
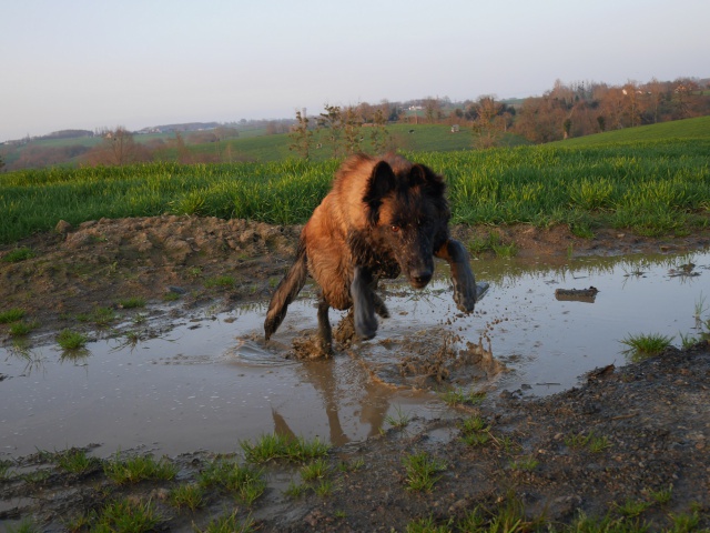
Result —
M78 228L60 223L53 232L0 247L0 312L23 309L37 325L31 339L41 339L77 328L77 316L91 315L98 308L120 306L121 299L144 298L150 309L179 298L185 314L206 305L229 309L265 301L290 264L298 231L187 217L100 220ZM707 231L649 239L605 230L594 239L580 239L566 228L454 229L465 243L489 232L503 243L514 242L519 255L560 261L570 254L681 252L710 245ZM2 260L22 247L32 257ZM13 342L7 325L0 325L0 341ZM0 374L0 398L2 379ZM485 444L462 439L464 421L474 415L487 424ZM63 531L68 521L92 510L100 513L106 502L122 496L150 500L161 515L159 531L204 529L211 519L234 512L241 521L250 517L257 531L405 531L419 519L457 531L475 509L489 525L505 509L513 509L521 530L540 524L561 530L579 513L616 521L607 531L620 531L622 522L663 531L681 520L694 529L677 531L710 527L707 342L600 370L585 385L546 399L525 400L507 392L476 406L452 408L446 419L402 425L333 449L327 495L286 495L284 480L297 477L298 469L275 462L264 466L267 489L252 506L209 491L205 505L195 512L175 509L166 495L178 484L195 481L212 459L209 453L185 451L171 457L180 467L171 482L120 486L99 466L69 474L41 454L3 455L0 529L31 520L39 531ZM580 435L590 434L595 439L581 443ZM591 442L600 443L601 450L592 451ZM407 489L402 462L422 451L443 466L429 492ZM338 470L342 461L358 467ZM20 475L33 471L43 474ZM669 501L659 502L659 494L670 487ZM641 510L630 511L632 503Z

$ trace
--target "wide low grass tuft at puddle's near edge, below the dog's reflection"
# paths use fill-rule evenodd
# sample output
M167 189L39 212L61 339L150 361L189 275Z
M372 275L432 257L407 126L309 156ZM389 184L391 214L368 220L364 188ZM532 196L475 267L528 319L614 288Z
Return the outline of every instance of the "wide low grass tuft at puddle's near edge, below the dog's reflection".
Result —
M293 463L324 457L331 445L320 439L306 441L303 438L292 439L276 433L262 435L255 444L241 441L240 446L250 463L265 463L271 460L285 460Z

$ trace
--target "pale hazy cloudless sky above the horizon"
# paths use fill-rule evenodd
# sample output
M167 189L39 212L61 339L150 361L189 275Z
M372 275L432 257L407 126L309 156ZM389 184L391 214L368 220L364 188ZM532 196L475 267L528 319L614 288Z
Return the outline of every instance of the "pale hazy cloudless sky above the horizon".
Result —
M8 0L0 142L706 78L709 21L709 0Z

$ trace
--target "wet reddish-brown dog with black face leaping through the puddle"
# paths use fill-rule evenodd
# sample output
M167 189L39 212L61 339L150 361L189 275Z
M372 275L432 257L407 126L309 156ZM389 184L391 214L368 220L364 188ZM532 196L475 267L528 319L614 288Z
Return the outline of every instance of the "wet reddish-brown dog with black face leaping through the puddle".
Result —
M268 305L265 339L278 329L308 273L321 288L317 344L332 353L329 308L353 308L355 333L372 339L377 318L389 313L375 292L378 279L404 274L423 289L434 257L450 265L454 301L466 313L476 304L468 252L449 237L450 210L443 177L424 164L387 154L353 155L339 167L331 192L303 228L296 259Z

